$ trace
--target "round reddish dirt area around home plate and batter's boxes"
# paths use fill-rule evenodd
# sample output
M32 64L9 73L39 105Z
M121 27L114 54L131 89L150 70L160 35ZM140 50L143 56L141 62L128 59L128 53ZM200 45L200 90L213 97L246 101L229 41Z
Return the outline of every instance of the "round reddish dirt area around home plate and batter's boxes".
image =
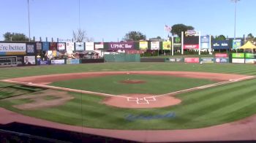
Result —
M153 96L148 94L126 94L105 98L105 104L121 108L161 108L181 103L173 96Z

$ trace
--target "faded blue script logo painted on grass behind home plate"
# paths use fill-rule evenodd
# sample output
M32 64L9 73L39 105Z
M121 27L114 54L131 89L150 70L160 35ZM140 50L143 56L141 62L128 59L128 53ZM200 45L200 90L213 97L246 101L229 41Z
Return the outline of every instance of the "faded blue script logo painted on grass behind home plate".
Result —
M176 117L175 112L169 112L167 114L163 115L146 115L146 114L140 114L140 115L127 115L125 117L125 120L129 121L135 121L135 120L159 120L159 119L171 119Z

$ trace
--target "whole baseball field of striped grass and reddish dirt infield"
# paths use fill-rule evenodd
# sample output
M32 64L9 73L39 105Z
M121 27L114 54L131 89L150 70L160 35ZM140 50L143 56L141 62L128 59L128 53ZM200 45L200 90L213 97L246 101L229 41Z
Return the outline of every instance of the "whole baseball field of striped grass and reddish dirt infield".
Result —
M206 128L256 113L256 66L249 64L28 66L0 75L0 107L87 128Z

